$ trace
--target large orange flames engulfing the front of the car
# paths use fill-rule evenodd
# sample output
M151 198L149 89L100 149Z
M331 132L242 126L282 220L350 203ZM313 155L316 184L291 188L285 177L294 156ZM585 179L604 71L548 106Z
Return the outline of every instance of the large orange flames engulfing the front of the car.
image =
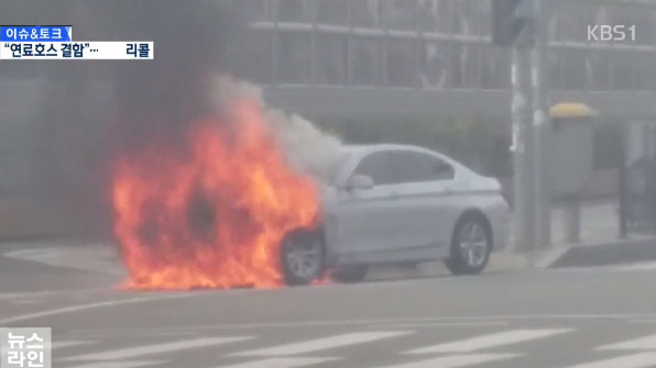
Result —
M258 101L116 161L114 235L132 289L281 286L280 244L311 227L315 182L285 161Z

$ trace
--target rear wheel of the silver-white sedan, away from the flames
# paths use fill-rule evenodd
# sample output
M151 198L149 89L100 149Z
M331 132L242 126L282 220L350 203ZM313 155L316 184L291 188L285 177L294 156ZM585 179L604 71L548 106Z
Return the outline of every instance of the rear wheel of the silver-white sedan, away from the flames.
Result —
M478 275L490 260L492 231L482 214L466 214L456 223L449 258L445 265L453 275Z

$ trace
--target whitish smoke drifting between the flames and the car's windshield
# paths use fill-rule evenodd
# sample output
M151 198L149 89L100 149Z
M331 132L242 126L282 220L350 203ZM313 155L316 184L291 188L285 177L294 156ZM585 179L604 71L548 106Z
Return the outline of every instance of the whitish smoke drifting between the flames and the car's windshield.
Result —
M320 180L330 180L332 171L342 156L343 143L335 135L316 126L298 114L286 114L266 105L262 89L219 77L210 91L211 100L219 101L219 111L233 98L255 98L264 111L275 137L283 146L289 164L302 172Z

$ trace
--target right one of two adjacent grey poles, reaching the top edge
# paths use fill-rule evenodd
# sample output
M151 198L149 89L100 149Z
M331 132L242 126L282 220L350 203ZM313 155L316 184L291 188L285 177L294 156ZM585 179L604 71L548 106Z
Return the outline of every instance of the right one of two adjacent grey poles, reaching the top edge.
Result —
M549 93L546 76L547 22L550 9L544 0L533 1L534 43L531 51L533 88L533 130L534 130L534 185L535 185L535 242L537 247L547 247L551 243L551 199L549 193L549 154L548 140L550 124L547 118Z

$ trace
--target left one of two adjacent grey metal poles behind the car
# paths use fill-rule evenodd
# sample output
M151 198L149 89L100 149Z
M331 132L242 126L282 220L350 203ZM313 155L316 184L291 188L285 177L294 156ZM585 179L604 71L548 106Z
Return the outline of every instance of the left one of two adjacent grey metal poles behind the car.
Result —
M524 38L527 38L526 36ZM513 211L516 250L534 248L533 124L531 104L531 48L526 40L513 46Z

